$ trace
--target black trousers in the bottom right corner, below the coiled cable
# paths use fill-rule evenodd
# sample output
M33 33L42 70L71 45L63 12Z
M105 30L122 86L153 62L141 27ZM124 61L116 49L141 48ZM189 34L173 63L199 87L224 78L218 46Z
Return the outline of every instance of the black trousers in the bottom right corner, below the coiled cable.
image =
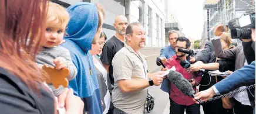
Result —
M242 103L237 101L236 99L234 99L234 103L235 103L234 105L235 114L244 114L244 113L252 114L253 113L253 108L251 106L242 105Z

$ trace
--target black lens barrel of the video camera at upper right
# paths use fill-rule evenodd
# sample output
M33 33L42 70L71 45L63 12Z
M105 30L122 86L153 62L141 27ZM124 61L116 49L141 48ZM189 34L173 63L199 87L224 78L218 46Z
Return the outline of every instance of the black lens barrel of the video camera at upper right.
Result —
M251 39L251 29L232 29L232 39Z

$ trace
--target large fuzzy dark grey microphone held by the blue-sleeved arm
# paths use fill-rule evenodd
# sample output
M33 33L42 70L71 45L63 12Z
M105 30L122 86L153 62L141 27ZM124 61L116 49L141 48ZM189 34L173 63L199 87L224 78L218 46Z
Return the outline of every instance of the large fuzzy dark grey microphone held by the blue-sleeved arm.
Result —
M183 75L181 75L177 71L170 70L169 74L167 75L167 78L173 82L173 84L181 91L183 94L187 96L195 97L194 95L194 89L192 88L192 85L188 80L186 80ZM201 104L200 99L197 100Z

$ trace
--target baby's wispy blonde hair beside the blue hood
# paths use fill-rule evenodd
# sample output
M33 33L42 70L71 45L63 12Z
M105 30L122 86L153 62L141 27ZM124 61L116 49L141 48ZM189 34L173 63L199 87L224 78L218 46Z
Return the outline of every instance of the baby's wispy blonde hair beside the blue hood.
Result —
M57 23L53 23L57 21ZM66 11L63 6L59 4L48 2L48 12L46 23L47 25L52 26L51 24L56 24L54 26L66 27L69 22L69 13Z

